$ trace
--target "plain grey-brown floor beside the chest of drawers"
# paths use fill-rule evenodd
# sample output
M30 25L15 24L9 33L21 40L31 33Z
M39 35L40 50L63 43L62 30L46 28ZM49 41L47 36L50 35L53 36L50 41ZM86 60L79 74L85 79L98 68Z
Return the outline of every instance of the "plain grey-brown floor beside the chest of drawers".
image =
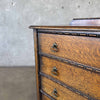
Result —
M0 100L36 100L35 70L0 68Z

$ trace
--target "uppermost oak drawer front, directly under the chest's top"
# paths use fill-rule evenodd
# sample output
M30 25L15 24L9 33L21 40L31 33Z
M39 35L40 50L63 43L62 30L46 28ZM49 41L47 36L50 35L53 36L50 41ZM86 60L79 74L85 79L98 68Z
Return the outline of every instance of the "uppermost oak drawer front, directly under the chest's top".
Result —
M43 53L100 68L100 38L40 33L39 39Z

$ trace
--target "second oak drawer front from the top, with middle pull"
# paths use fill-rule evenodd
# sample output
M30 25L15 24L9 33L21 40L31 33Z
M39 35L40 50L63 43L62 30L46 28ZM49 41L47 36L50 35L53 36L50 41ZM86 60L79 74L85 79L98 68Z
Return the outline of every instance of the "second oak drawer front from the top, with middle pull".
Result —
M100 99L100 74L42 57L41 72ZM55 69L56 68L56 69Z

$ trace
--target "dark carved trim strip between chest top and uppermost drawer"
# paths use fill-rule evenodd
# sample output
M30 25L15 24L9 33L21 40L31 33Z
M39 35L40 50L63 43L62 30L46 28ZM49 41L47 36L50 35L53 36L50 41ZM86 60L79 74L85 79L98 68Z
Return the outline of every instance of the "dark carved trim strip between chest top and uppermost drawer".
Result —
M72 35L72 36L85 36L85 37L95 37L100 38L100 31L84 31L84 30L38 30L38 33L46 34L58 34L58 35Z

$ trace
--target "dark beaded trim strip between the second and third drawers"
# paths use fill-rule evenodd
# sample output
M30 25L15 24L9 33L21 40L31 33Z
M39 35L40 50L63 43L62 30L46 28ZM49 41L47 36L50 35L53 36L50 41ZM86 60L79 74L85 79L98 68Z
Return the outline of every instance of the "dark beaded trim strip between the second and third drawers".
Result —
M83 93L82 91L80 91L80 90L78 90L78 89L76 89L76 88L74 88L74 87L72 87L72 86L69 86L69 85L67 85L67 84L65 84L65 83L63 83L63 82L61 82L61 81L59 81L59 80L57 80L57 79L55 79L55 78L53 78L53 77L51 77L51 76L45 74L45 73L40 72L39 74L40 74L41 76L43 76L43 77L46 77L46 78L52 80L52 81L55 82L55 83L57 83L57 84L59 84L59 85L65 87L65 88L67 88L68 90L70 90L70 91L72 91L72 92L74 92L74 93L76 93L76 94L78 94L78 95L80 95L80 96L83 96L84 98L86 98L86 99L88 99L88 100L98 100L98 99L96 99L96 98L90 96L89 94Z

